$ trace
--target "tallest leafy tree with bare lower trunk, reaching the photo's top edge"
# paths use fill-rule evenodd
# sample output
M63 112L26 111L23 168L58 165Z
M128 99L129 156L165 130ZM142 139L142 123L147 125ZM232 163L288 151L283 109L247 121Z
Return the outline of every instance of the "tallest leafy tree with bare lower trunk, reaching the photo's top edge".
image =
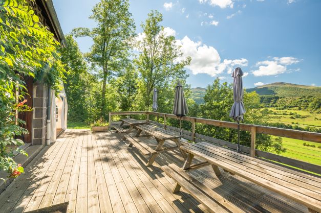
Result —
M135 25L128 0L101 0L90 18L97 22L96 28L76 28L73 34L89 36L94 41L86 57L93 66L102 69L101 116L106 119L106 83L114 73L126 67Z

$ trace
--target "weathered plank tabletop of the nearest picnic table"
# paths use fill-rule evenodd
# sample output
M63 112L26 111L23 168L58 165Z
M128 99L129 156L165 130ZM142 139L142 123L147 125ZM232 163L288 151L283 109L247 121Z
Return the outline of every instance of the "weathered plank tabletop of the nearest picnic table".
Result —
M321 180L318 178L305 174L295 175L289 169L275 169L272 163L224 150L205 142L180 148L189 153L188 157L191 159L197 156L216 167L221 167L225 171L302 203L310 212L321 212ZM185 161L185 164L190 164L191 159L187 163ZM189 169L188 166L186 169Z

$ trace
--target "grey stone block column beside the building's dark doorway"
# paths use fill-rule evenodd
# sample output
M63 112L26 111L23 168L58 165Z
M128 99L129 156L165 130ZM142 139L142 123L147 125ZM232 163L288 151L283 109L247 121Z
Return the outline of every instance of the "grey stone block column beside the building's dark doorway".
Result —
M36 82L33 87L32 144L45 145L47 132L47 86Z

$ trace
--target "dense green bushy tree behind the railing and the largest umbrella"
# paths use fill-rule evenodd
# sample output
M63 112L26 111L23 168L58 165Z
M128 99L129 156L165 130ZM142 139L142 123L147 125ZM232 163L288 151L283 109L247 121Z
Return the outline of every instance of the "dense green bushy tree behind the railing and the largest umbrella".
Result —
M192 116L232 122L233 120L229 117L232 104L232 84L228 84L227 82L221 83L220 79L217 78L211 85L207 86L204 104L198 107L194 105L189 111ZM262 106L260 97L255 91L244 92L244 105L246 107L244 123L261 125L268 120L268 112L266 110L260 110ZM237 143L238 141L237 130L234 129L197 124L196 132L232 143ZM241 131L240 133L241 145L249 146L250 132ZM285 148L282 146L282 138L266 134L256 134L256 149L275 153L285 151Z

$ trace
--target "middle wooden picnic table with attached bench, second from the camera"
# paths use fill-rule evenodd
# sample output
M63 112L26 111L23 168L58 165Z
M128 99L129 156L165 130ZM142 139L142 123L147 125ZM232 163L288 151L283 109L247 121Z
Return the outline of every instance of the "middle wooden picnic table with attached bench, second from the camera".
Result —
M147 162L147 166L152 165L157 155L161 152L167 152L176 148L179 148L181 146L180 144L180 135L177 132L165 130L162 128L159 128L154 125L137 125L136 129L138 130L136 135L133 137L131 135L125 135L124 139L129 140L130 145L129 147L132 147L135 145L135 147L142 152L144 155L151 155ZM142 132L145 133L145 135L140 135ZM157 141L157 147L153 150L152 148L148 147L147 145L143 144L143 142L139 139L140 137L151 137L153 136ZM175 147L163 147L166 140L172 140L175 142L177 146ZM185 152L180 150L183 156L186 156Z

